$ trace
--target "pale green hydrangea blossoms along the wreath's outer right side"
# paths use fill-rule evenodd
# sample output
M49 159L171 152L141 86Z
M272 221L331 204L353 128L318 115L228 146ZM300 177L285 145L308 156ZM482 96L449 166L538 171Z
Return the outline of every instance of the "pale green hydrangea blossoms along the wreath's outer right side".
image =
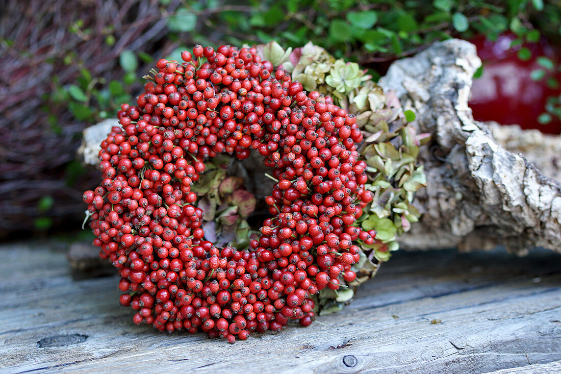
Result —
M352 284L358 285L374 275L378 263L387 261L390 252L399 248L399 235L419 220L413 198L426 186L426 178L417 156L429 136L415 134L408 126L415 120L415 113L403 111L396 95L384 93L357 63L337 60L311 42L293 49L288 57L288 51L275 42L257 45L257 51L262 57L275 58L304 89L329 95L335 104L354 114L365 136L359 150L368 165L366 188L374 199L363 209L357 225L375 230L376 239L371 245L359 243L361 261L353 266L357 280ZM319 305L323 313L336 311L344 304L342 295L335 297L330 290L322 292Z

